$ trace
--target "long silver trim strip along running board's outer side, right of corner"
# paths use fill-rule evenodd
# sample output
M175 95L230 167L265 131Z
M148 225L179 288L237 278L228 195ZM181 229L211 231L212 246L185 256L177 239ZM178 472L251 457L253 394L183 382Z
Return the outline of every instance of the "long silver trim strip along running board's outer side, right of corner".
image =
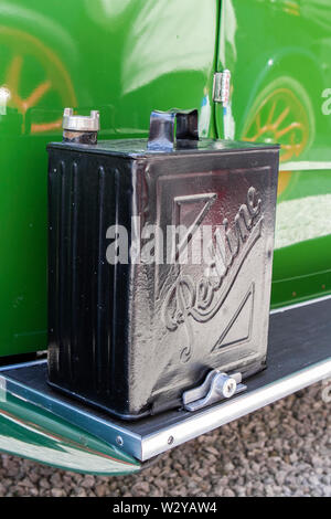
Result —
M181 445L329 377L331 377L331 357L247 395L234 398L199 414L195 413L175 425L143 437L141 460L164 453L170 448L169 443L171 448Z

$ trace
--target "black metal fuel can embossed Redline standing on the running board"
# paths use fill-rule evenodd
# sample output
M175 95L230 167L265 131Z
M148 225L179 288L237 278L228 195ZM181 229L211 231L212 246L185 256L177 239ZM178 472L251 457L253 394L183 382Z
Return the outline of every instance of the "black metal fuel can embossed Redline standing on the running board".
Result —
M121 419L266 366L278 146L196 128L47 147L49 382Z

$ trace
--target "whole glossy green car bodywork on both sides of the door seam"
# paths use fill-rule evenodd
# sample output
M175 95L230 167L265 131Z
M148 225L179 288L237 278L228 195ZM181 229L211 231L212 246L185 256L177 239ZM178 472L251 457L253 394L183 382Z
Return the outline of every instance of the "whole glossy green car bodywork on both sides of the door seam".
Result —
M152 109L196 107L201 137L280 142L271 307L330 294L330 51L328 0L1 0L0 356L46 347L45 147L62 139L65 106L100 110L100 139L146 137ZM224 68L227 108L213 102ZM23 413L34 424L26 443L53 442L56 453L61 441L38 432L46 427L38 409L6 405L0 427L12 448L0 441L0 449L30 456L8 417ZM61 437L81 434L63 427ZM85 470L76 439L72 457L44 460ZM31 457L42 460L39 452ZM137 469L117 458L124 473Z

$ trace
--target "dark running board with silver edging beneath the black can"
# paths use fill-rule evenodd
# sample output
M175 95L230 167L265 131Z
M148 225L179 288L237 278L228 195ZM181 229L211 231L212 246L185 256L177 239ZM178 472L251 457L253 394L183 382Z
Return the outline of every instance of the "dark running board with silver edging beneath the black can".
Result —
M145 462L331 378L331 297L270 313L268 368L245 381L245 393L195 412L172 411L127 423L52 390L44 360L0 371L0 385L8 392Z

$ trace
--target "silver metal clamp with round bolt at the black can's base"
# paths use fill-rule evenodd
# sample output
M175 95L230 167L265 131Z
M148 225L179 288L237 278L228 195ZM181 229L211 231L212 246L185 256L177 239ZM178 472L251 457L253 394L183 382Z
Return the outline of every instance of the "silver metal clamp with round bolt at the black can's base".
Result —
M212 370L204 382L183 393L183 405L186 411L197 411L221 400L231 399L247 388L242 384L242 373L226 374L221 370Z

